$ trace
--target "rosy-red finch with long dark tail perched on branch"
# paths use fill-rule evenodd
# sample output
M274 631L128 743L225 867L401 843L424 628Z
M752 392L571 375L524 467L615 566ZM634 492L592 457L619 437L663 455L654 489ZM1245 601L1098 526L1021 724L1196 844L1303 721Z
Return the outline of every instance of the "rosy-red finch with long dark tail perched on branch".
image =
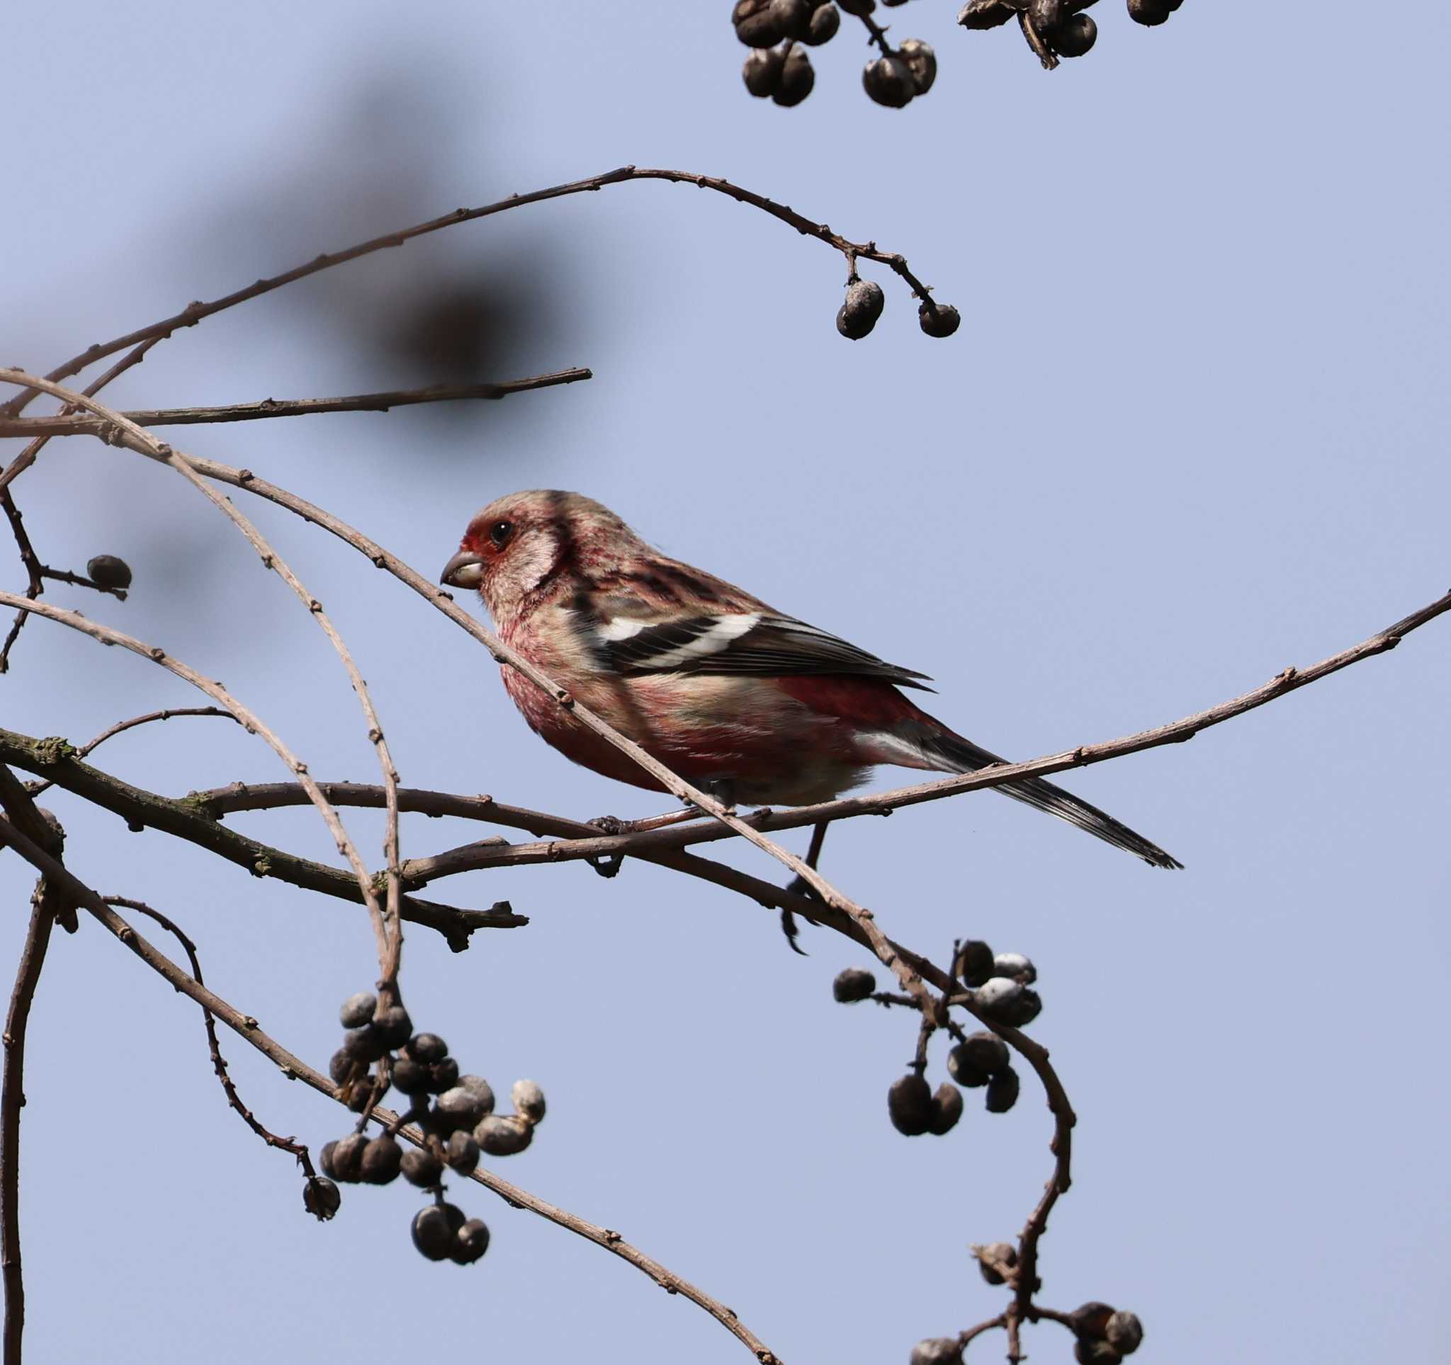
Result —
M731 583L667 558L580 493L490 502L464 531L443 583L476 587L499 635L651 757L721 801L810 805L882 763L969 773L997 754L898 689L924 673L885 663ZM505 666L531 728L585 767L659 783ZM1175 859L1061 788L998 788L1155 867Z

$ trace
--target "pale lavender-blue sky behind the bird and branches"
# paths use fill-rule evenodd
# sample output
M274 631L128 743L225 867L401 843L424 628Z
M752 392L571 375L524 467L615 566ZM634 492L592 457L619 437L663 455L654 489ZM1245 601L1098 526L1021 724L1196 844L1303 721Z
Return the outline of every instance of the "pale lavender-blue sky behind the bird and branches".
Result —
M718 196L628 184L222 315L109 397L425 383L390 319L425 284L447 299L486 280L511 302L479 377L596 377L467 413L173 438L425 572L502 492L591 493L670 554L933 675L937 715L1020 757L1239 693L1447 589L1439 6L1376 23L1188 0L1155 30L1100 6L1098 48L1048 75L1010 29L966 33L921 0L894 32L933 42L940 73L900 112L862 94L846 25L802 106L750 100L726 9L33 13L3 97L3 358L46 368L457 205L627 161L698 170L903 251L961 331L924 338L878 271L887 310L846 342L837 255ZM51 563L106 550L136 569L125 605L54 601L223 677L315 773L369 779L321 634L181 480L73 441L16 490ZM354 641L405 782L579 818L662 808L543 749L482 651L361 558L247 511ZM23 586L17 566L6 583ZM1033 1031L1080 1113L1042 1298L1136 1310L1140 1359L1447 1350L1448 666L1436 622L1191 744L1065 779L1183 873L988 793L827 844L826 870L904 941L942 957L975 936L1036 960ZM45 622L0 689L7 725L73 740L193 702ZM187 724L97 760L171 793L281 776L232 727ZM361 910L48 799L77 873L180 920L222 995L326 1060L337 1004L373 979ZM235 822L329 856L309 812ZM376 850L380 821L348 825ZM414 818L403 850L479 836ZM0 876L10 960L30 878L9 857ZM831 976L863 960L853 946L808 930L810 959L794 957L773 914L637 863L609 882L570 865L432 892L506 896L533 921L461 957L422 933L405 950L415 1020L496 1089L533 1076L548 1095L538 1140L501 1174L620 1229L792 1365L905 1361L998 1311L966 1246L1016 1234L1049 1117L1024 1086L1008 1115L969 1105L942 1140L898 1137L884 1095L914 1028L831 1004ZM276 1130L342 1131L239 1040L223 1052ZM482 1189L461 1203L495 1240L467 1271L412 1250L399 1187L306 1220L289 1160L222 1102L194 1007L93 925L52 947L29 1059L35 1361L344 1361L421 1333L501 1358L741 1359L689 1304ZM1027 1349L1071 1353L1051 1326Z

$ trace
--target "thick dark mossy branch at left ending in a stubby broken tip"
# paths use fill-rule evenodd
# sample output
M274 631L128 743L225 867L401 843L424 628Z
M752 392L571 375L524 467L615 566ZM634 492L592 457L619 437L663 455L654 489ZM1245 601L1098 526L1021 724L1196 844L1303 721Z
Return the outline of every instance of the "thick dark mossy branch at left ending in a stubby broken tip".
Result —
M277 878L354 905L361 902L357 879L340 867L328 867L325 863L315 863L248 838L219 824L194 802L173 801L132 786L97 767L80 763L73 754L74 750L64 740L35 740L30 735L0 730L0 763L12 763L115 812L132 830L161 830L197 844L238 867L245 867L252 876ZM292 789L300 792L300 804L308 804L308 795L300 786ZM376 791L382 807L382 788ZM403 896L402 912L405 920L441 933L456 952L469 946L469 936L476 928L514 928L530 923L525 915L514 914L508 901L499 901L492 910L456 910L435 901Z

